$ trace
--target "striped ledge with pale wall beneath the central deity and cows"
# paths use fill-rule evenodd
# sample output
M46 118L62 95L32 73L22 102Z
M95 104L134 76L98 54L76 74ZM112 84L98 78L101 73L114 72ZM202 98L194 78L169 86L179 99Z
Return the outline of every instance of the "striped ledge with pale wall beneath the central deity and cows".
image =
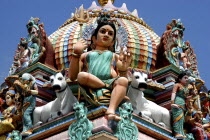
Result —
M88 108L88 119L93 123L93 135L89 137L90 140L117 140L114 136L113 130L108 126L108 121L105 118L106 106L97 108ZM42 126L34 128L33 134L26 137L25 140L68 140L68 128L76 121L74 112L69 113L61 118L50 121ZM172 132L155 123L133 114L133 122L138 128L139 140L172 140Z

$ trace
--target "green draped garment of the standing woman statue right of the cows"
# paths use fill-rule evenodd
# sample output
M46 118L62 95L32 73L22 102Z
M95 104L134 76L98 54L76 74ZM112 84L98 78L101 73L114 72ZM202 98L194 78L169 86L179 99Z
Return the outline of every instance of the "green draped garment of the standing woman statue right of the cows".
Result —
M182 134L182 135L185 135L183 125L184 125L185 100L186 100L188 93L189 93L188 88L180 89L176 93L174 104L177 104L177 105L181 106L182 108L181 107L180 108L172 108L173 121L176 120L177 117L179 117L181 114L183 114L183 116L178 121L173 123L174 132L178 133L178 134Z

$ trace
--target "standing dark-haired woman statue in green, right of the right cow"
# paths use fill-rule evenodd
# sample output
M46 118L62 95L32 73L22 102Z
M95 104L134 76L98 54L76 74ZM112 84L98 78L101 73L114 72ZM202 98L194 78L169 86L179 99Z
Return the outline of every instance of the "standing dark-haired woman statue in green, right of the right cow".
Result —
M172 119L173 130L175 138L185 138L183 129L184 125L184 113L186 111L185 103L189 95L188 89L188 75L187 73L181 73L173 87L171 95L171 107L172 107Z

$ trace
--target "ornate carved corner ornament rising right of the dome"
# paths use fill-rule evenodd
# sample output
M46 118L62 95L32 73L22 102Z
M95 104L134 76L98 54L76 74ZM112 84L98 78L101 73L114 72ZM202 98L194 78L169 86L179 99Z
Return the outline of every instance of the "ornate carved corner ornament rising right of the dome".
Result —
M199 78L197 60L189 41L183 41L184 26L181 20L173 19L166 26L160 44L158 45L158 57L156 68L173 64L181 71L189 71L196 78ZM159 60L164 60L162 63Z

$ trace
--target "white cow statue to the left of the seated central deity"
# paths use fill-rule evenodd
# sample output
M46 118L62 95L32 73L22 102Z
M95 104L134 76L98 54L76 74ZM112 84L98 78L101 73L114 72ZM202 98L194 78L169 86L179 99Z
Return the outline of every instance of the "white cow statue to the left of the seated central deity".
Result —
M57 98L54 101L35 108L33 112L34 127L73 111L73 104L77 102L76 97L66 83L64 73L59 72L52 75L50 77L50 84Z

